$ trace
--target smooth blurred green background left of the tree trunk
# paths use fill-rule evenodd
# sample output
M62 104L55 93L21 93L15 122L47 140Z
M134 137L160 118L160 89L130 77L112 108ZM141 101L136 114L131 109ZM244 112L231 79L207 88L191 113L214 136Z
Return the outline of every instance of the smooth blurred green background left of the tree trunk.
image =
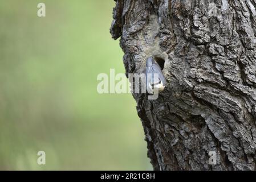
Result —
M131 94L96 91L99 73L124 73L109 34L114 6L1 0L0 169L152 169ZM40 150L46 165L37 164Z

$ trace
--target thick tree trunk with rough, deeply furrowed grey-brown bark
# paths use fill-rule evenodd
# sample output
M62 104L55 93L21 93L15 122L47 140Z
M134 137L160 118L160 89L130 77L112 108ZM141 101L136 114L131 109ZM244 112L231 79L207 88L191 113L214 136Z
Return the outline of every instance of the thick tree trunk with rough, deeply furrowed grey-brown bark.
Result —
M164 60L157 100L133 94L156 170L256 169L256 0L116 0L126 73ZM208 163L216 151L217 164Z

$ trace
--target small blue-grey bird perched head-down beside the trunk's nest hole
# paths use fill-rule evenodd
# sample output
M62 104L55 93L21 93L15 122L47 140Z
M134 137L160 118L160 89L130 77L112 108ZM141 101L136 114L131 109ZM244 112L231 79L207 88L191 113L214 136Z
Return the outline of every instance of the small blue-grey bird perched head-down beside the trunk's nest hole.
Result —
M149 93L154 92L154 88L157 88L159 92L164 90L166 80L164 75L162 74L162 70L159 64L156 63L153 57L148 57L146 61L146 83L147 83L147 90ZM158 76L156 77L155 74Z

